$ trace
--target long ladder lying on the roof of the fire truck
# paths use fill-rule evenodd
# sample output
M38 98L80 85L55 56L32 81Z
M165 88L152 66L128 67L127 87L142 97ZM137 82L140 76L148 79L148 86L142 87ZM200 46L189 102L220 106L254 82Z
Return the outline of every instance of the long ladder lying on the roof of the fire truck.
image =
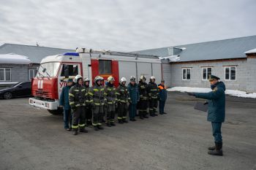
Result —
M126 53L126 52L118 52L118 51L110 51L110 50L93 50L86 48L77 48L77 53L91 53L91 54L103 54L103 55L121 55L127 57L135 57L135 58L160 58L158 55L148 55L148 54L139 54L139 53Z

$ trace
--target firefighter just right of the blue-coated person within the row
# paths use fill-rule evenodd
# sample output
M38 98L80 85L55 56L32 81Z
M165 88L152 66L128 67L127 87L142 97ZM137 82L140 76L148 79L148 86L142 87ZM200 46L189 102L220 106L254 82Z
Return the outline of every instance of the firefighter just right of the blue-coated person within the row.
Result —
M143 75L140 76L138 89L140 93L140 101L138 103L139 117L140 119L148 118L148 84L146 83L146 77Z

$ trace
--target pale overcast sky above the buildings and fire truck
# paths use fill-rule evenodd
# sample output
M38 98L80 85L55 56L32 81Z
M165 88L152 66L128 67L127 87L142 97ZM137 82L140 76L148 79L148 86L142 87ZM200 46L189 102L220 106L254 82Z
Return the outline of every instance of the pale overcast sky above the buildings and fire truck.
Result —
M0 2L0 45L133 51L256 35L255 0Z

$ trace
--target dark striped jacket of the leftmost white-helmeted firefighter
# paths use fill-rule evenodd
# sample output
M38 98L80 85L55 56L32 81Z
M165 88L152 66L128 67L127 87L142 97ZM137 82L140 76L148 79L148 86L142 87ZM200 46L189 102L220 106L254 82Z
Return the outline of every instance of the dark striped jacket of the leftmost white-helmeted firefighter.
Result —
M71 109L86 106L86 88L83 85L75 84L69 90L69 105Z

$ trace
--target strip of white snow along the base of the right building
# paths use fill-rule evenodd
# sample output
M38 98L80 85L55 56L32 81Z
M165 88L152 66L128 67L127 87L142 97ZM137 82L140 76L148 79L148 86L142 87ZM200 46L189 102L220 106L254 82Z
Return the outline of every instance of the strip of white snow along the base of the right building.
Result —
M199 93L208 93L211 91L211 88L189 88L189 87L173 87L168 88L168 91L180 91L180 92L199 92ZM245 91L240 90L225 90L225 93L230 96L238 96L243 98L256 98L256 93L246 93Z

